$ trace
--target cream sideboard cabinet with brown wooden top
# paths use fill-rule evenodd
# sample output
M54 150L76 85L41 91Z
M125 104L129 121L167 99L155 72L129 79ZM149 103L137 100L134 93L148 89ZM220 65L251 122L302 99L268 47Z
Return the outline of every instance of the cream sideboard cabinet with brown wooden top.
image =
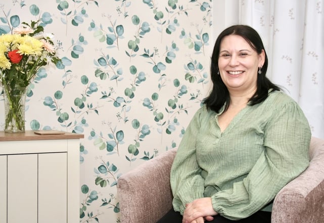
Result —
M79 222L80 138L0 131L1 222Z

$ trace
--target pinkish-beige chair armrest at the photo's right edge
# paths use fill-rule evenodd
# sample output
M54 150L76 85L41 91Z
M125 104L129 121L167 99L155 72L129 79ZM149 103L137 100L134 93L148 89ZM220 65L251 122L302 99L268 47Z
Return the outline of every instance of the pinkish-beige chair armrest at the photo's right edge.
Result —
M308 168L275 197L271 222L324 222L324 140L312 137Z

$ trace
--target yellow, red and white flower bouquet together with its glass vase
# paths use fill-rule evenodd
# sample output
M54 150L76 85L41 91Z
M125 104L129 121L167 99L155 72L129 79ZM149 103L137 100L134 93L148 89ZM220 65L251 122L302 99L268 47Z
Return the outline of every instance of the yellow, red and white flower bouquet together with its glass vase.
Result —
M0 35L0 85L5 98L5 132L25 131L25 97L28 85L42 66L58 64L53 34L38 22L22 23Z

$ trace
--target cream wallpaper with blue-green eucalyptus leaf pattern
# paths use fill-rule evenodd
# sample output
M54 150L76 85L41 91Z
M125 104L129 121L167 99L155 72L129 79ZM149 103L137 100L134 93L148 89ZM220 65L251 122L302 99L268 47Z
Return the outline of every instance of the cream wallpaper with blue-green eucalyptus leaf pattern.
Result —
M55 36L62 64L41 68L29 85L26 129L84 134L80 222L120 222L118 177L181 140L210 90L211 5L211 0L0 3L0 34L40 20Z

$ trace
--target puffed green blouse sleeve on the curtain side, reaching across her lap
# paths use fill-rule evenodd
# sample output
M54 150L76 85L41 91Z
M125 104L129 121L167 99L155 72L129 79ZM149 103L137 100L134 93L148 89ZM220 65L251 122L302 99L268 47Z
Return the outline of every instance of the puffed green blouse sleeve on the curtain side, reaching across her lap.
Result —
M309 165L309 124L296 102L275 110L264 129L264 151L247 177L212 196L214 210L226 218L246 218Z

